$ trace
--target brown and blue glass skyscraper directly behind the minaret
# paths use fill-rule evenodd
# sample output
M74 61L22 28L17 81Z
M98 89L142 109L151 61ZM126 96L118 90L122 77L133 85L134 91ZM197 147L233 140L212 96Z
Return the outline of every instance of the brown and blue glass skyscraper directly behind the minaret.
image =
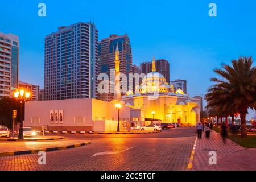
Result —
M133 73L132 67L132 54L130 38L125 35L110 35L108 38L102 39L99 42L99 72L106 73L110 78L110 70L115 69L115 51L118 44L119 51L119 71L128 76L129 73ZM114 76L114 75L112 75ZM128 80L127 80L128 81ZM110 85L113 86L113 85ZM112 101L114 94L100 94L99 98L103 101Z

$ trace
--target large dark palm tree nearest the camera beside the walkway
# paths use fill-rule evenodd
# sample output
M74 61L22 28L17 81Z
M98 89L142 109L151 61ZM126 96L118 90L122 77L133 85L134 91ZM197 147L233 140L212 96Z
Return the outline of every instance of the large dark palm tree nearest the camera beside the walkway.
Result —
M256 67L251 57L239 57L232 66L223 64L222 69L214 69L221 78L212 78L215 85L208 89L208 107L217 107L225 117L240 114L241 135L245 137L246 114L248 109L256 109Z

